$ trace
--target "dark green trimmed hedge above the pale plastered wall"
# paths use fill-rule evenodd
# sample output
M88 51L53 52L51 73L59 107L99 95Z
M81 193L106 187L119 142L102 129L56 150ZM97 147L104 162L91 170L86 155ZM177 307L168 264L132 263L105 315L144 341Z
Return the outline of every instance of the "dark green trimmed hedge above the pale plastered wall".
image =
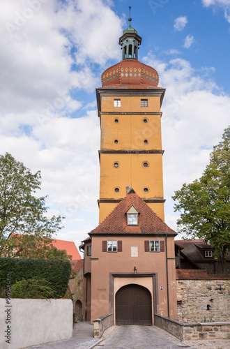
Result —
M0 289L6 288L9 274L11 285L22 279L45 279L55 291L54 297L61 298L66 294L70 273L69 260L0 258Z

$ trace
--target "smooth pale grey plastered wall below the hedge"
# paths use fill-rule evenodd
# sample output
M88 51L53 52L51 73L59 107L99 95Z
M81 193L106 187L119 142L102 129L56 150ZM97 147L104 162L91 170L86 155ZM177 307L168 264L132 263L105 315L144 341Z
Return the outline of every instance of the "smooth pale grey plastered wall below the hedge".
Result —
M0 348L19 349L72 337L71 299L0 298Z

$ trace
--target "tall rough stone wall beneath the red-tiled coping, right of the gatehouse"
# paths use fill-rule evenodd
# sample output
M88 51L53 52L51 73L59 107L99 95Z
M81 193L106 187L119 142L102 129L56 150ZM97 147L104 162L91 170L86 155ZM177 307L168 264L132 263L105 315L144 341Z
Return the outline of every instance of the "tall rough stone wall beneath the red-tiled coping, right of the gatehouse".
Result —
M229 321L230 280L176 280L178 320Z

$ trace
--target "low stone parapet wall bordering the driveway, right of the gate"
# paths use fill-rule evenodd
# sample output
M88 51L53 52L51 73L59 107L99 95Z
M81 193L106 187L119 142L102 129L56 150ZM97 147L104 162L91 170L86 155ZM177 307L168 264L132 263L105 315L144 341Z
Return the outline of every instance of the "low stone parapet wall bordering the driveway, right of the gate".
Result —
M194 339L230 339L230 322L185 324L155 314L154 324L181 341Z

